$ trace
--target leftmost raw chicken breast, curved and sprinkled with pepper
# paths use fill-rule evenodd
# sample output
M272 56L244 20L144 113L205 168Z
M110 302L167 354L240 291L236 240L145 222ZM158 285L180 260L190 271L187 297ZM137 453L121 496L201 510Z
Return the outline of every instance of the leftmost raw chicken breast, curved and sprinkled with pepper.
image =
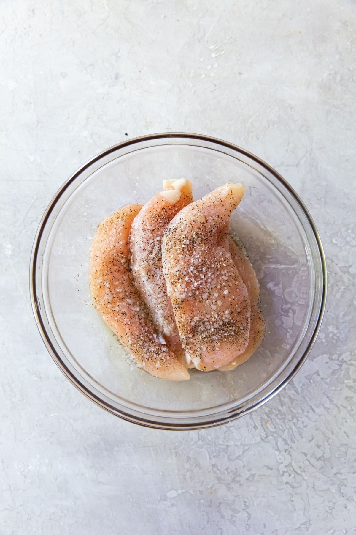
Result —
M90 250L92 302L139 368L161 379L189 379L133 283L129 234L140 209L140 204L125 206L100 223Z

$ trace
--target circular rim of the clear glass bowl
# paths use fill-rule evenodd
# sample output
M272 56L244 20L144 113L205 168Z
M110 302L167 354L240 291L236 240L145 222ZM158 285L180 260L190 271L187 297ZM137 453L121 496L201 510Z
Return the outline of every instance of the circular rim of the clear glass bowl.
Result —
M154 419L149 418L143 418L139 417L137 415L131 415L128 414L128 412L125 412L123 410L117 409L116 407L113 407L110 403L107 401L102 400L90 391L88 387L86 387L73 373L69 370L66 363L62 360L60 355L57 353L56 348L54 348L51 339L46 331L46 328L43 323L43 319L41 316L41 307L38 304L37 301L37 290L36 290L36 270L37 270L37 263L38 263L38 250L39 245L41 242L42 235L44 233L44 228L46 226L46 223L54 209L54 206L58 202L61 195L64 193L64 191L72 184L72 182L80 176L80 174L90 167L93 163L99 161L102 157L108 156L112 152L122 149L125 147L128 147L130 145L133 145L135 143L145 142L145 141L155 141L155 140L162 140L162 139L168 139L168 138L180 138L180 139L192 139L197 141L203 141L208 143L215 143L218 144L221 147L231 149L233 151L240 152L240 154L243 154L244 156L247 156L248 158L251 158L252 161L255 161L260 166L264 167L268 172L270 172L274 178L276 178L281 184L288 190L288 192L291 194L292 197L294 197L295 201L299 205L300 209L304 212L304 216L306 217L308 224L310 225L310 228L312 230L312 233L314 235L315 242L318 246L318 253L320 255L320 262L321 262L321 274L322 274L322 286L321 286L321 299L320 299L320 308L319 308L319 314L318 318L315 322L313 333L310 336L310 340L308 342L307 347L304 350L304 353L300 356L298 362L295 364L294 368L291 370L289 375L284 378L280 384L278 384L274 389L272 389L271 392L267 393L262 399L256 401L255 403L251 404L248 408L244 410L239 410L237 407L234 412L229 412L229 414L221 415L220 417L210 419L209 421L203 421L203 422L192 422L192 423L179 423L179 422L170 422L170 423L164 423L160 421L155 421ZM120 156L119 156L120 157ZM143 425L145 427L152 427L154 429L165 429L165 430L192 430L192 429L203 429L207 427L214 427L217 425L222 425L227 422L231 422L234 419L240 418L241 416L245 414L249 414L249 412L256 410L258 407L262 406L264 403L266 403L268 400L272 399L276 394L278 394L288 383L289 381L295 376L297 371L301 368L303 363L305 362L308 354L310 353L311 348L314 345L315 339L317 338L318 332L320 330L320 326L322 323L323 314L325 312L326 307L326 295L327 295L327 266L326 266L326 259L325 254L323 251L321 239L319 232L317 230L317 227L315 226L315 223L307 210L304 202L299 197L299 195L295 192L294 188L292 188L288 182L276 171L273 169L272 166L264 162L261 158L258 156L255 156L252 154L252 152L249 152L246 149L243 149L239 147L238 145L223 141L218 139L217 137L212 137L208 135L203 134L194 134L194 133L188 133L188 132L162 132L162 133L156 133L156 134L147 134L142 135L138 137L133 137L132 139L124 140L120 143L116 143L112 147L109 147L108 149L101 151L96 156L93 156L90 158L87 162L85 162L81 167L77 169L70 177L62 184L62 186L58 189L57 193L53 196L52 200L50 201L48 207L46 208L44 215L41 218L41 221L38 225L37 232L35 235L33 248L31 251L31 257L30 257L30 269L29 269L29 286L30 286L30 298L31 298L31 306L34 314L34 318L37 324L37 328L39 331L39 334L41 335L41 338L44 342L44 345L46 346L47 350L49 351L52 359L54 362L56 362L59 369L64 373L64 375L69 379L69 381L82 393L86 396L86 398L90 399L94 403L96 403L99 407L105 409L106 411L110 412L110 414L114 414L117 417L120 417L126 421L136 423L138 425Z

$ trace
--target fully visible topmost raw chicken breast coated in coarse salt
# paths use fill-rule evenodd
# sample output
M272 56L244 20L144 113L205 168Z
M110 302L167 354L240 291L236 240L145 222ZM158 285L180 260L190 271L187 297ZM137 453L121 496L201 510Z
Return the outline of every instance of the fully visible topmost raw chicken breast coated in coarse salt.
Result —
M180 210L164 231L163 274L188 364L213 370L249 340L250 300L229 251L228 223L244 193L226 184Z

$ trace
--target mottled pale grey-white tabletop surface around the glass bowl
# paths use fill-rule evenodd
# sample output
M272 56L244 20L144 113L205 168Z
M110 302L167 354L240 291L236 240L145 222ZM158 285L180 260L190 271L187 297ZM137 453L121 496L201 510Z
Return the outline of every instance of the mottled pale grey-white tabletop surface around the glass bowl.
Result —
M1 535L356 533L354 0L2 0ZM326 317L251 415L172 433L106 414L52 362L28 264L52 195L128 137L266 159L325 246Z

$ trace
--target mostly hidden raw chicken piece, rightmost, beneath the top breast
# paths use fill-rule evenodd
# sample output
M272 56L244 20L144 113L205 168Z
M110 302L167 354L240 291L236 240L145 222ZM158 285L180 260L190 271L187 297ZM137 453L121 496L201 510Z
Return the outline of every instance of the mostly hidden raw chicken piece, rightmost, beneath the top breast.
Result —
M238 268L241 278L247 288L247 292L251 303L251 322L250 322L250 338L247 348L234 358L234 360L225 366L221 366L219 371L234 370L240 364L246 362L257 351L262 343L266 332L266 323L262 312L259 309L259 284L256 277L256 272L252 267L246 254L241 247L239 247L230 236L230 253L232 260Z

